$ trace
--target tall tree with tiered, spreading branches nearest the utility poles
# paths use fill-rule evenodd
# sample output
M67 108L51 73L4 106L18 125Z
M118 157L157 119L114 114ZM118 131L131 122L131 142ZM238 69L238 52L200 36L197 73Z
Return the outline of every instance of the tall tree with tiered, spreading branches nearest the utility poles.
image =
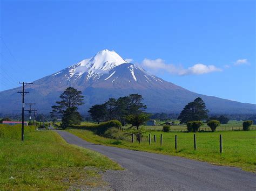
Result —
M66 109L84 104L82 91L78 91L72 87L66 88L59 97L61 100L56 102L58 105L52 106L51 116L55 116L56 114L63 115Z

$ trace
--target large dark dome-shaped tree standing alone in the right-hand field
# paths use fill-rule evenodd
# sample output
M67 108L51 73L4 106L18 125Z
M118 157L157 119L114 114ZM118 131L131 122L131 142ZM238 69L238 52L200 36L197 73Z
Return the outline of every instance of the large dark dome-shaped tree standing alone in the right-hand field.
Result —
M201 121L208 118L207 112L209 111L206 109L204 101L198 97L196 100L188 103L185 106L178 119L180 119L180 123L187 123L188 121Z

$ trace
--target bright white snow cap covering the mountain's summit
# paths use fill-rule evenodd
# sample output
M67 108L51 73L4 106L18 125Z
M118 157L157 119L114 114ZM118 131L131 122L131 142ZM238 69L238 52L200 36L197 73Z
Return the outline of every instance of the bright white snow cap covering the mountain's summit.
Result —
M89 59L82 60L75 65L66 68L69 70L68 74L65 74L67 80L71 77L76 77L78 79L84 73L87 74L86 79L89 80L92 76L97 75L100 77L104 73L108 73L113 67L121 65L122 63L127 63L120 55L114 51L109 51L104 49L98 52L95 56ZM62 71L53 74L53 76L62 73Z

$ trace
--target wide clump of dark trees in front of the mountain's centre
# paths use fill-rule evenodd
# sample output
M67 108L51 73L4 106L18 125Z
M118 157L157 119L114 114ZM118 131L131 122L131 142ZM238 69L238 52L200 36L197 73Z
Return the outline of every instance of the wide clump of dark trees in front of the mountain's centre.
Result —
M117 99L109 98L103 104L93 105L88 112L91 118L98 124L116 119L124 126L129 121L127 119L128 116L143 114L147 107L142 101L142 95L139 94L130 94L129 96L119 97Z

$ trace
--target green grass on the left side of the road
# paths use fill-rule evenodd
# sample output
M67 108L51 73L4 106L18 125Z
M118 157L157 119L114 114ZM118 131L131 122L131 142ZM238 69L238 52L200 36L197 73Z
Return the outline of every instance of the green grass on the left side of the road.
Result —
M3 190L104 187L99 172L108 169L122 168L102 154L66 143L54 131L26 132L23 143L19 138L0 137Z

